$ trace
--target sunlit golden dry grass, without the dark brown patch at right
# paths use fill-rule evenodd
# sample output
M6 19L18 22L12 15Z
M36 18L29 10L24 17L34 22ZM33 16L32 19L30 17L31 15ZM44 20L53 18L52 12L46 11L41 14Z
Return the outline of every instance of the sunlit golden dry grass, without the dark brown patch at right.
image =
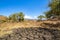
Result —
M60 22L60 21L57 21ZM14 23L2 23L0 24L0 36L3 36L5 34L12 33L12 29L14 28L30 28L30 27L42 27L41 25L43 23L56 23L56 21L24 21L24 22L14 22ZM42 27L42 28L49 28L49 27ZM60 30L60 28L57 28Z

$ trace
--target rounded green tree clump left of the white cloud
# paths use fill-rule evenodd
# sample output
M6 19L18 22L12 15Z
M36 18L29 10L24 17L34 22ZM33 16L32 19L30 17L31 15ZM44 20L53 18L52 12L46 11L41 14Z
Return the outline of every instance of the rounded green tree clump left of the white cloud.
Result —
M15 21L24 21L24 14L22 12L11 14L9 16L9 20L12 20L14 22Z

